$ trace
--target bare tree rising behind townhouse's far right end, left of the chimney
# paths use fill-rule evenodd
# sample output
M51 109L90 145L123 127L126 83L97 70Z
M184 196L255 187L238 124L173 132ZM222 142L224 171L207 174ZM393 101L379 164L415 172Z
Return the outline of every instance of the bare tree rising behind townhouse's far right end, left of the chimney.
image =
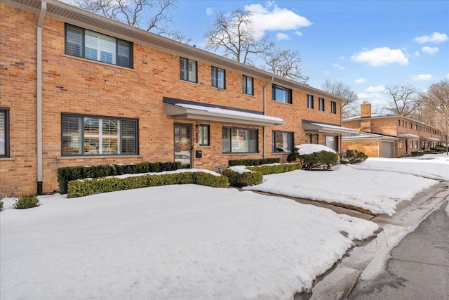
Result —
M331 93L335 96L339 96L348 100L346 103L342 103L342 118L346 119L349 117L355 117L358 115L360 104L358 103L358 96L356 92L352 91L351 88L344 84L342 81L330 81L326 79L321 88Z

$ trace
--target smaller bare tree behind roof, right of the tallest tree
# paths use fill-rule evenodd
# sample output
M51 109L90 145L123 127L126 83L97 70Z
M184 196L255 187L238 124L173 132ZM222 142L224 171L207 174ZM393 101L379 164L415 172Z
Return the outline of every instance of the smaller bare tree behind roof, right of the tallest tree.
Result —
M265 62L262 70L302 83L309 80L309 77L301 74L302 60L299 51L274 49L264 53L262 58Z

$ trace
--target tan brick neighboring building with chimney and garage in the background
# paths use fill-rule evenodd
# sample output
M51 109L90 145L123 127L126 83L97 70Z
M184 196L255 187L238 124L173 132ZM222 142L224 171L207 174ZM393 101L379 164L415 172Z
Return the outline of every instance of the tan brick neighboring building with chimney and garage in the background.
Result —
M441 141L441 130L398 115L371 115L371 104L362 103L361 116L343 120L359 131L342 136L343 150L358 150L368 157L403 157L430 150Z

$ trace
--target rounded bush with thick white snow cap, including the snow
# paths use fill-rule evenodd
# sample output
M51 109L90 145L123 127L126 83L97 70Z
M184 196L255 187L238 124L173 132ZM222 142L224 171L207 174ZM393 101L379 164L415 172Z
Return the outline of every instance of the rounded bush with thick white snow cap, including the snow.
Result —
M338 163L338 155L333 149L323 145L303 144L297 145L287 160L299 161L303 170L328 170Z

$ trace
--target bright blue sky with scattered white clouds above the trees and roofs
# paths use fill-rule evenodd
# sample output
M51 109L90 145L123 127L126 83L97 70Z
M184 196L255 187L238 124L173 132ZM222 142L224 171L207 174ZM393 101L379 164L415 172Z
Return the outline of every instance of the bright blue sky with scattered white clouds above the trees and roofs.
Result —
M449 79L449 1L187 1L180 0L177 30L203 48L217 13L253 11L255 31L282 49L300 51L308 84L342 81L378 107L384 86L419 91Z

